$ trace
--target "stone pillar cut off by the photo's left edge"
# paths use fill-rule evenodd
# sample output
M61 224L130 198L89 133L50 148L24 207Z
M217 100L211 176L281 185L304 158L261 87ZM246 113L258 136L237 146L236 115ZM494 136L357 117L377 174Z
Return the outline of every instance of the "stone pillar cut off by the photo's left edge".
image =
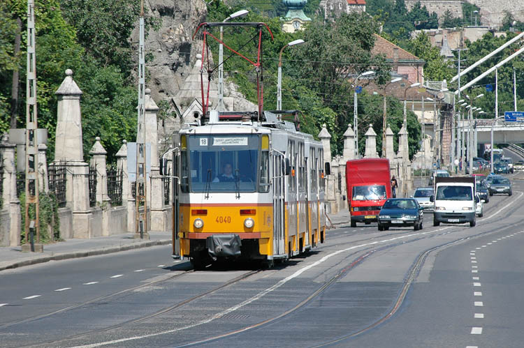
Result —
M2 202L3 210L9 212L9 226L6 229L8 232L0 236L1 246L20 245L22 215L20 215L20 200L16 193L15 147L15 144L8 143L7 136L0 139L1 165L3 165Z

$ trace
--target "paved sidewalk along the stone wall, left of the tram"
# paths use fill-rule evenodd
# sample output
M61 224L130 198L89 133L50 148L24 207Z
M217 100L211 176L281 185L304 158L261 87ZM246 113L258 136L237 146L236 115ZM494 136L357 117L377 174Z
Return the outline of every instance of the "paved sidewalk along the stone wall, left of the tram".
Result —
M170 232L150 232L149 241L133 239L133 233L114 234L92 239L66 239L66 241L45 244L43 252L22 252L20 246L1 247L0 271L52 260L110 254L169 243L171 243Z

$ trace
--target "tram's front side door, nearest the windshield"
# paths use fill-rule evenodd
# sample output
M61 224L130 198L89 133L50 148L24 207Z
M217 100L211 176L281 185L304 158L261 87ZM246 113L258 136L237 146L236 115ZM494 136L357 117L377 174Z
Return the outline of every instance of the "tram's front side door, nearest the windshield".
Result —
M284 255L286 253L284 237L285 206L284 186L285 160L282 153L272 152L272 188L273 188L273 255Z

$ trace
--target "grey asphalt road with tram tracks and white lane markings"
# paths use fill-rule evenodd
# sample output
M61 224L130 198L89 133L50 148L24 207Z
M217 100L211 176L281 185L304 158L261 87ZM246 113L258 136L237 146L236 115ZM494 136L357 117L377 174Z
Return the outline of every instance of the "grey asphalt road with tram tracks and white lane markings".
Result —
M269 270L191 272L161 246L2 271L0 347L523 347L524 174L509 176L476 227L344 225Z

